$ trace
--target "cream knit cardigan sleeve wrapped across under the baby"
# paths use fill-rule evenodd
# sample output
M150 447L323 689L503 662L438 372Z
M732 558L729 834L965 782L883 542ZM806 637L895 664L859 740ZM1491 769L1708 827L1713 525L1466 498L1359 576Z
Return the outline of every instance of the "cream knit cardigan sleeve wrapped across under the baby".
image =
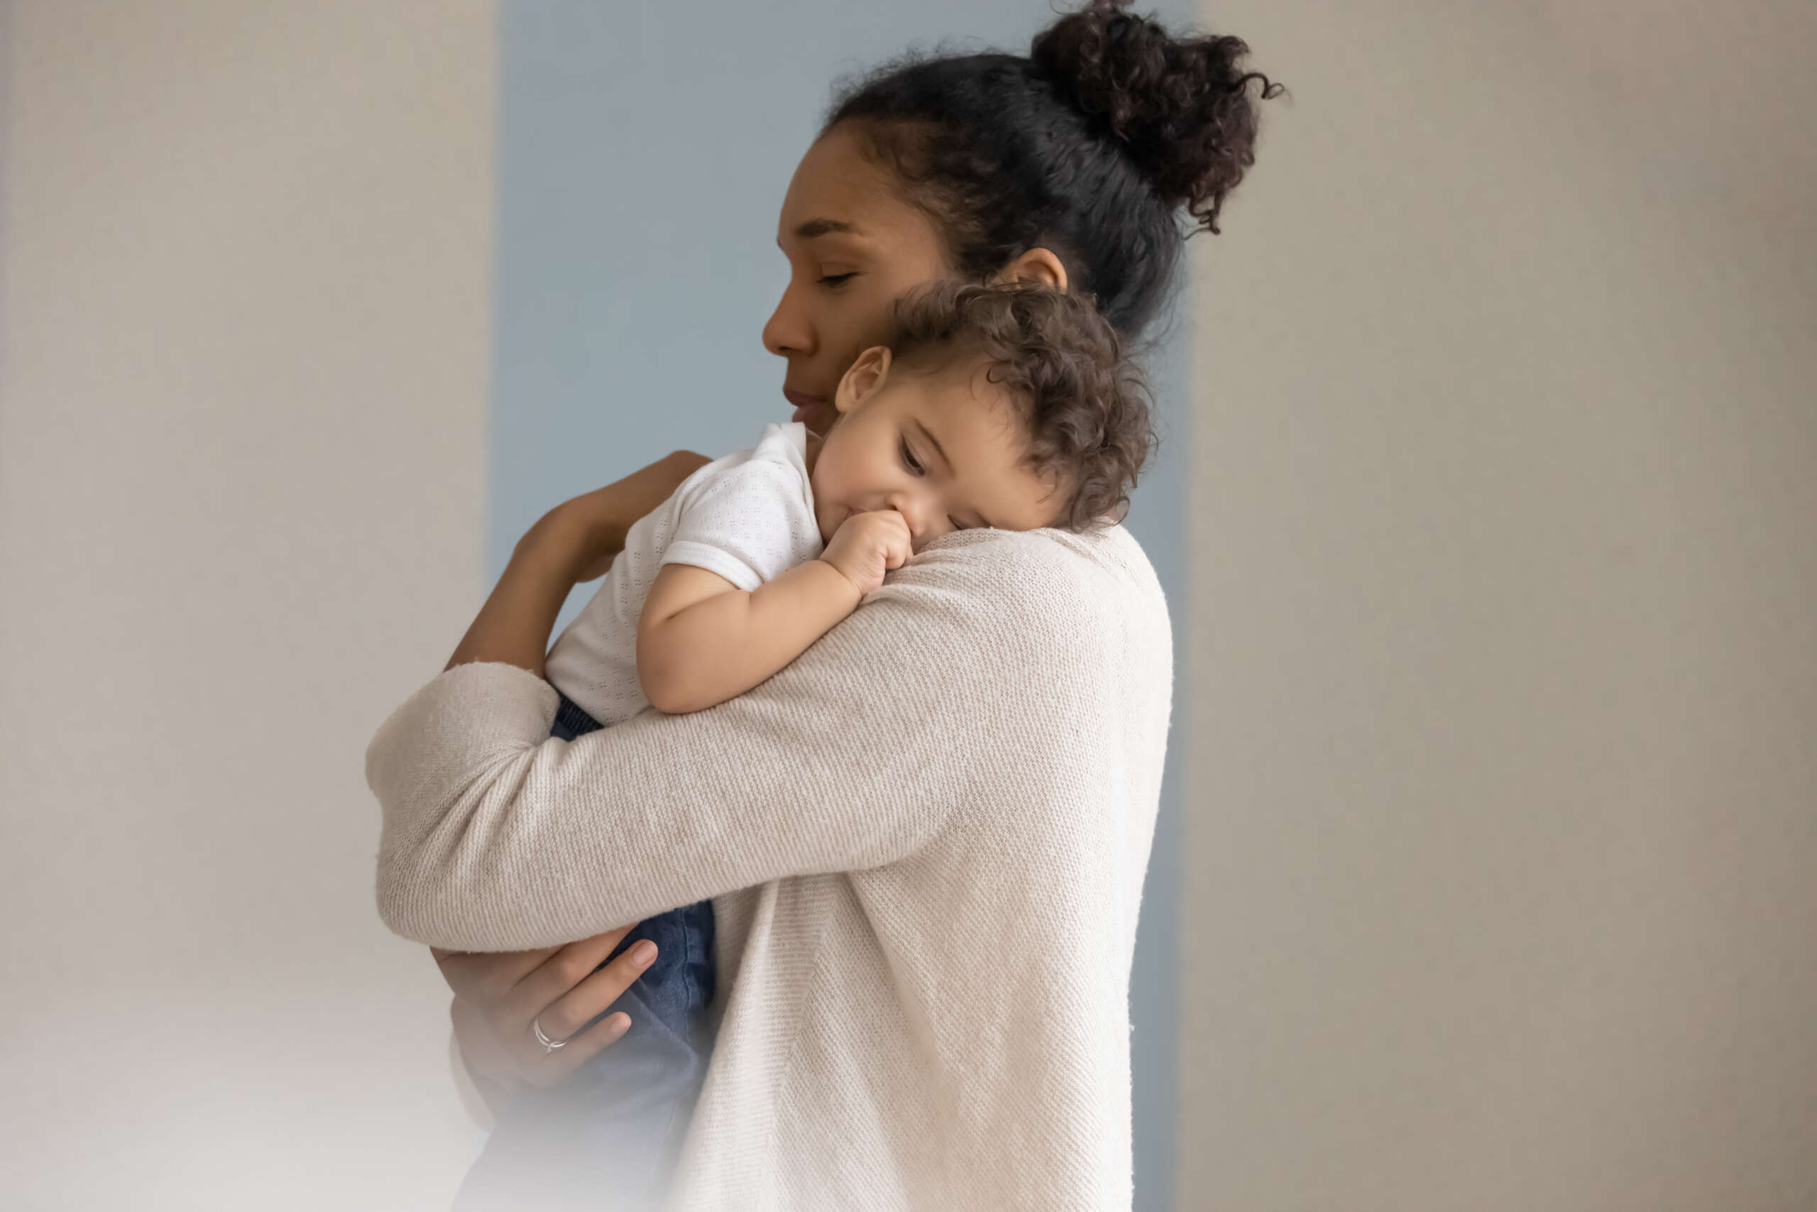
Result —
M438 947L549 947L912 854L1003 778L1018 712L1045 698L1021 683L1063 643L1041 578L987 547L923 552L774 678L689 716L561 741L534 674L440 674L367 747L382 918Z

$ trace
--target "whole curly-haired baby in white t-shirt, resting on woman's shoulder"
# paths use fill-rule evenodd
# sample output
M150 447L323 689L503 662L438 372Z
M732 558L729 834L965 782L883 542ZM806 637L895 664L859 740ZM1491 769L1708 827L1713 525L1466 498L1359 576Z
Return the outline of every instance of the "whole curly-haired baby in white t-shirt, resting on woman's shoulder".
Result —
M1116 522L1152 445L1141 380L1096 305L1032 285L903 300L890 343L852 362L834 407L825 438L769 425L630 527L549 654L552 736L743 694L941 534ZM705 1074L712 905L649 918L618 950L638 939L658 956L614 1005L630 1028L594 1061L609 1079L574 1079L591 1101L569 1112L654 1167Z

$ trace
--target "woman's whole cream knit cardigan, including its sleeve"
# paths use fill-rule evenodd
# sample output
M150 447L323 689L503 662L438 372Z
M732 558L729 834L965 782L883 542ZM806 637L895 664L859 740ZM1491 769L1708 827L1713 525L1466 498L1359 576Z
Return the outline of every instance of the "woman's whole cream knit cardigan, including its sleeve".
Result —
M378 907L545 947L714 898L670 1208L1130 1207L1128 979L1172 690L1121 527L947 536L779 674L551 740L460 665L378 729Z

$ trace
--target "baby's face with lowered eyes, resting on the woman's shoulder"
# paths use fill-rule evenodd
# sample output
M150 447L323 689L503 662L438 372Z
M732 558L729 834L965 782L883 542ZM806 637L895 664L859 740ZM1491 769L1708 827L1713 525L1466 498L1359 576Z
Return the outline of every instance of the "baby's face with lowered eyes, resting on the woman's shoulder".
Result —
M874 509L901 512L914 551L950 531L1054 523L1059 492L1023 465L1023 422L981 362L910 371L878 345L839 380L834 407L812 471L821 540Z

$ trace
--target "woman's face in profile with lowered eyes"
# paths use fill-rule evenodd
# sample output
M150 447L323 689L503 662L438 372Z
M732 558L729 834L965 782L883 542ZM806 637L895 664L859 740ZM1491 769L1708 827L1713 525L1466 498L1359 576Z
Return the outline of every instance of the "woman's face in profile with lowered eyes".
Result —
M934 224L841 127L801 156L776 243L789 258L789 287L763 325L763 347L789 362L792 420L825 434L839 378L861 351L885 343L892 303L950 269Z

